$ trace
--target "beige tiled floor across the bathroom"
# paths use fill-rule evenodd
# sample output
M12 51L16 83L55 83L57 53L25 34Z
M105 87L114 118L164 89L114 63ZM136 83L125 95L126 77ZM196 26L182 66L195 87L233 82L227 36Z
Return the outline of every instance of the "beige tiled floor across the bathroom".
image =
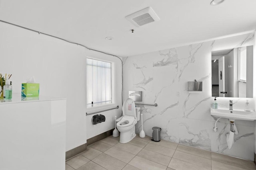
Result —
M256 170L254 162L150 137L107 137L66 161L66 170Z

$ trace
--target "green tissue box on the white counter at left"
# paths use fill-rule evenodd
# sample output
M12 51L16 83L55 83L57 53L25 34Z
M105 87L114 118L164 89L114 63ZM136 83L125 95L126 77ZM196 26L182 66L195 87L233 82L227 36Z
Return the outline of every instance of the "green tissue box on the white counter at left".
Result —
M23 96L23 97L39 96L39 84L22 83L21 96Z

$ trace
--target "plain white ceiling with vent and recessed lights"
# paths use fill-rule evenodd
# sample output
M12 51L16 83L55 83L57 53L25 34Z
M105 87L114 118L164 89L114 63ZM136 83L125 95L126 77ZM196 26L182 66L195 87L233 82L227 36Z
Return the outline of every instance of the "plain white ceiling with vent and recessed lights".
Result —
M256 29L256 0L0 0L0 20L120 57ZM125 16L148 6L160 21L135 27ZM131 33L130 29L134 29ZM113 37L107 41L106 37Z

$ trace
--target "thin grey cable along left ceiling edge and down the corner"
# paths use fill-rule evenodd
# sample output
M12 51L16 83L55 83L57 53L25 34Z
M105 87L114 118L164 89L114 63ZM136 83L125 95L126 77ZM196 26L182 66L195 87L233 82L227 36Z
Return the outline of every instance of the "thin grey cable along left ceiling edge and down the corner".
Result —
M30 28L27 28L27 27L23 27L23 26L20 26L20 25L16 25L16 24L14 24L14 23L10 23L10 22L3 21L3 20L0 20L0 22L7 23L7 24L9 24L9 25L13 25L13 26L16 26L16 27L20 27L20 28L23 28L23 29L26 29L26 30L29 30L29 31L33 31L33 32L36 32L36 33L38 33L38 34L43 34L43 35L47 35L47 36L49 36L49 37L53 37L53 38L56 38L56 39L60 39L60 40L62 40L62 41L66 41L66 42L68 42L68 43L80 45L80 46L82 46L82 47L88 49L89 51L92 50L92 51L96 51L96 52L103 53L103 54L106 54L106 55L112 55L112 54L105 53L105 52L103 52L103 51L99 51L99 50L96 50L96 49L90 49L90 48L88 48L88 47L86 47L85 45L82 45L82 44L80 44L80 43L75 43L75 42L70 41L70 40L67 40L67 39L63 39L63 38L60 38L60 37L56 37L56 36L54 36L54 35L50 35L50 34L47 34L47 33L42 33L42 32L40 32L40 31L36 31L36 30L34 30L34 29L30 29ZM112 55L112 56L113 56L113 57L117 57L118 59L120 59L121 64L122 64L122 104L123 104L123 61L122 61L122 59L121 59L120 57L118 57L118 56L116 56L116 55Z

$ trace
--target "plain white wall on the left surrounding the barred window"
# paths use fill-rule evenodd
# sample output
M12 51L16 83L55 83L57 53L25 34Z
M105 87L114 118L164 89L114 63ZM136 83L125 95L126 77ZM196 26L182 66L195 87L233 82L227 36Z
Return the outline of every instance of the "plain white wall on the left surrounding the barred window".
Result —
M86 117L86 56L113 58L0 22L0 73L12 74L13 93L20 94L21 83L34 75L40 83L40 96L67 98L66 151L86 143L88 131L89 136L93 136L110 129L86 128L86 123L90 122L90 117ZM118 100L121 101L121 78L120 74L116 76ZM119 106L122 107L120 102ZM120 115L120 110L116 114ZM112 117L107 115L106 120Z

